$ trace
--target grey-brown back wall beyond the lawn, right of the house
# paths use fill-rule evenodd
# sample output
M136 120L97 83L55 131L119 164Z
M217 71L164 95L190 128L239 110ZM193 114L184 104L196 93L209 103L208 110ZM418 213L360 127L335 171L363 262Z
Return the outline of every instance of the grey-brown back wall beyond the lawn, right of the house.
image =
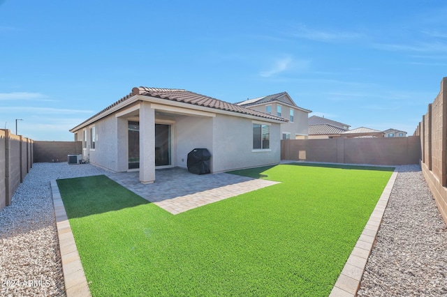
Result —
M419 159L418 136L281 140L281 160L407 165Z

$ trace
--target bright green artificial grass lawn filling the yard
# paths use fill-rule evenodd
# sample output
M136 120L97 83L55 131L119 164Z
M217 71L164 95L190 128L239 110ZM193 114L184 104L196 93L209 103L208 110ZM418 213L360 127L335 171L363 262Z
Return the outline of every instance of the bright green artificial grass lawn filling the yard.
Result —
M328 296L393 169L278 165L172 215L105 176L58 180L93 296Z

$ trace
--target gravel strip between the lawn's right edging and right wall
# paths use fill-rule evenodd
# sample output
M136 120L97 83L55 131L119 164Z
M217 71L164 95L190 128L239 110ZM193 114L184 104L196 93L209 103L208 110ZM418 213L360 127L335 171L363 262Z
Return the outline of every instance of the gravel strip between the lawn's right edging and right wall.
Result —
M447 296L447 228L418 165L399 174L358 296Z

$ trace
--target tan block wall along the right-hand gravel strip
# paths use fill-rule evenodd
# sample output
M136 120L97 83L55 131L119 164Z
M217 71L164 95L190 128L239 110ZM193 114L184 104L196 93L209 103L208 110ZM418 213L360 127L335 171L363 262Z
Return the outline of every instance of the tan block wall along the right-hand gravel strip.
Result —
M420 167L439 211L447 223L447 77L441 80L438 96L416 128L423 151Z

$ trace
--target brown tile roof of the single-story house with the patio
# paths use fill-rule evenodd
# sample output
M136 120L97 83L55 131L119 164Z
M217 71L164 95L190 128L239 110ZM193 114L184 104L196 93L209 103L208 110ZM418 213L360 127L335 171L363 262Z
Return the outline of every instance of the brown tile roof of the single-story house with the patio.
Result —
M253 109L248 109L246 107L238 106L232 103L228 103L219 99L211 98L205 95L200 95L198 93L193 93L191 91L186 91L184 89L163 89L163 88L149 88L146 86L140 86L135 87L132 89L132 93L129 93L129 95L124 96L117 102L114 102L112 105L109 105L108 107L105 107L105 109L101 110L101 112L98 112L94 116L91 116L90 119L99 116L103 114L104 112L108 111L108 109L111 109L112 107L115 107L116 105L119 105L122 102L125 102L126 100L129 100L129 98L135 96L135 95L142 95L142 96L149 96L154 98L160 98L175 102L184 102L191 105L197 105L197 106L203 106L203 107L210 107L214 109L221 109L226 110L228 112L236 112L239 114L249 114L251 116L258 116L264 119L271 119L275 121L284 121L287 122L288 119L284 119L280 116L274 116L272 114L265 114L264 112L257 112ZM87 120L89 121L89 119ZM87 122L85 121L85 122Z

